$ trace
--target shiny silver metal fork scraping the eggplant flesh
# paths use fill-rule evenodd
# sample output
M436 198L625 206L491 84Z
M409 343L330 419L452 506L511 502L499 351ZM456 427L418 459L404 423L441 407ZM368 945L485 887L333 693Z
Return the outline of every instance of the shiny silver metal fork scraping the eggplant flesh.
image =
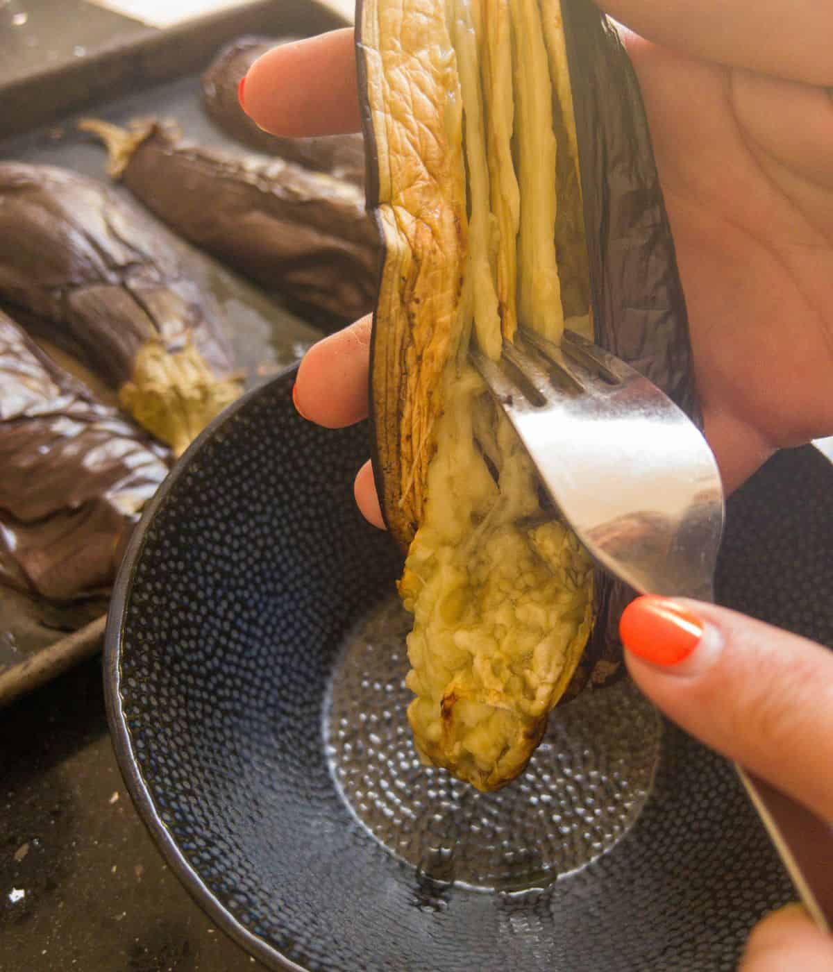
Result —
M641 593L713 601L723 489L706 439L630 365L572 331L522 330L500 363L469 358L543 485L608 573ZM736 769L819 927L833 928L833 828Z

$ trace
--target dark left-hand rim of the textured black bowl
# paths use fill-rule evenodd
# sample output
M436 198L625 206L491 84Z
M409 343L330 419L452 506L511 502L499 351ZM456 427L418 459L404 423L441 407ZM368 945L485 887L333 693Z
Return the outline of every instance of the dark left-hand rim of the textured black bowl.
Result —
M167 825L156 810L150 787L139 768L139 760L121 705L121 636L124 614L136 567L147 542L148 527L156 518L160 507L167 501L169 494L191 467L193 460L202 451L203 446L230 424L252 401L262 395L274 394L277 386L294 384L298 364L291 364L284 368L274 377L244 392L239 399L226 406L226 409L191 442L156 490L151 502L143 510L139 522L133 528L113 586L104 633L102 675L107 722L121 777L140 819L150 832L156 848L161 852L171 871L185 886L196 904L249 955L272 969L307 972L304 966L297 965L285 955L281 955L274 946L269 945L236 919L205 884L185 854L180 851Z

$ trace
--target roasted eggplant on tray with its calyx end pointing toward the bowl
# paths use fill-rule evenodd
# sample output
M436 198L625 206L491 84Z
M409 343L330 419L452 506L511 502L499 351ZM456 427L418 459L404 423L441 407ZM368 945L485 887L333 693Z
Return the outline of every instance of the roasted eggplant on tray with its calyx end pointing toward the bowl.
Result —
M145 213L85 176L0 164L0 303L177 454L239 395L213 298Z

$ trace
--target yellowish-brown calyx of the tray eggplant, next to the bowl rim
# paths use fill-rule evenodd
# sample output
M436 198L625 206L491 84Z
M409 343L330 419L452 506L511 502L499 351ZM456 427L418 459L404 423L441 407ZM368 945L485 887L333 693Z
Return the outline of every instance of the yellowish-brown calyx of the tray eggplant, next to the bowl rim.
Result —
M242 391L242 379L218 378L189 341L171 350L160 340L143 345L119 403L179 457Z

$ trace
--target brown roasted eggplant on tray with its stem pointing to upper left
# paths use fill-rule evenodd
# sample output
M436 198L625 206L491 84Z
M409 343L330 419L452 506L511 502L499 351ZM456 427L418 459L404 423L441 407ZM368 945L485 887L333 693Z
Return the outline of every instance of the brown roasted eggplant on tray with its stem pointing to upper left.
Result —
M81 127L106 142L110 174L159 219L267 291L326 312L330 324L372 310L378 238L352 184L278 158L209 151L172 125Z

